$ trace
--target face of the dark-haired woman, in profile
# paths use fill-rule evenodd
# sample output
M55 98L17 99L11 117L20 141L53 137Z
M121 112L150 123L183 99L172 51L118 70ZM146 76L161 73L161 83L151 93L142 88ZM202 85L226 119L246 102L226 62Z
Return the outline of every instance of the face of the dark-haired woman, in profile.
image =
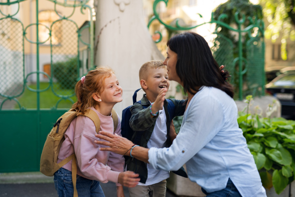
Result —
M178 83L180 83L180 78L178 77L176 73L176 63L177 63L177 53L170 50L168 46L167 58L165 59L163 64L167 66L168 79L177 81Z

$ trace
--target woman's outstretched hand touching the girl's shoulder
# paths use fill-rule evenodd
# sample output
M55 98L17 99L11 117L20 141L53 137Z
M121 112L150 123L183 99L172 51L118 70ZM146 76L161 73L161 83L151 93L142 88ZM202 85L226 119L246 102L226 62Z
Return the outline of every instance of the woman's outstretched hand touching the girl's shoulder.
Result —
M128 155L129 150L134 145L132 141L129 141L128 139L106 131L99 131L99 134L95 134L95 137L98 137L99 139L104 139L106 141L95 140L94 143L110 147L99 148L99 150L112 151L120 155Z

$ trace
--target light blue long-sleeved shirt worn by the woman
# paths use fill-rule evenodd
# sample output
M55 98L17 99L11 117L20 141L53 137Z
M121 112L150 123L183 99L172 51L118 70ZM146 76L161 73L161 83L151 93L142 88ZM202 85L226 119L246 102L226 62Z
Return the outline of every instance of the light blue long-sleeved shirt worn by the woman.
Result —
M149 164L167 171L186 164L189 179L208 193L224 189L231 178L243 197L266 197L236 119L235 101L217 88L203 86L188 104L172 146L150 148Z

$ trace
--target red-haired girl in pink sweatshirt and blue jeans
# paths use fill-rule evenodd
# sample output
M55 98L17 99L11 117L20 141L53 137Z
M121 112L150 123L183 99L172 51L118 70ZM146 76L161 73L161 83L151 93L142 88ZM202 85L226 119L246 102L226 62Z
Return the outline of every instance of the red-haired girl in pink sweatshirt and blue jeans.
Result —
M77 112L75 118L64 134L59 151L59 160L75 153L77 158L77 183L79 197L104 197L99 181L115 182L117 196L124 197L123 187L135 187L139 181L137 174L123 171L124 158L112 152L99 151L99 147L92 141L99 140L94 137L95 125L91 119L83 116L87 110L92 109L100 119L100 130L114 132L111 111L117 102L122 101L122 88L111 68L100 67L90 70L75 86L77 102L72 108ZM120 120L116 134L121 135ZM63 165L55 174L55 188L59 197L73 196L72 161Z

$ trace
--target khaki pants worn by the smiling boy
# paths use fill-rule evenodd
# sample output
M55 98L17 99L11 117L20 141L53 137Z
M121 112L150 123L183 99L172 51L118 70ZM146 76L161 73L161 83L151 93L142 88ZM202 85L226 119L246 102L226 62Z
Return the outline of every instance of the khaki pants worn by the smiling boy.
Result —
M137 185L134 188L128 188L130 197L165 197L166 180L148 186Z

